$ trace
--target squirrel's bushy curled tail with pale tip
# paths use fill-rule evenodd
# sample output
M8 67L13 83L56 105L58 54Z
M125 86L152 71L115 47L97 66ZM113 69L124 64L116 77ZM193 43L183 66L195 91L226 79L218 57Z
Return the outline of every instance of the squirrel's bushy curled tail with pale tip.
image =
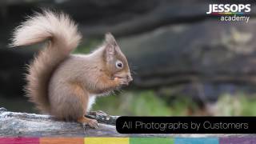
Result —
M31 62L26 76L26 93L43 113L50 111L48 86L56 67L78 46L81 35L66 14L44 10L18 26L10 46L27 46L49 40Z

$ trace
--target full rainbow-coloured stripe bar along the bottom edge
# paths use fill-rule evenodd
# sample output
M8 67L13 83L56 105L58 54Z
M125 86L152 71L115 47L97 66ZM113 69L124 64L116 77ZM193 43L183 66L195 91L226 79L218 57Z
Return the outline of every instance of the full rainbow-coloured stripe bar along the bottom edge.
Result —
M0 144L253 144L256 136L226 138L0 138Z

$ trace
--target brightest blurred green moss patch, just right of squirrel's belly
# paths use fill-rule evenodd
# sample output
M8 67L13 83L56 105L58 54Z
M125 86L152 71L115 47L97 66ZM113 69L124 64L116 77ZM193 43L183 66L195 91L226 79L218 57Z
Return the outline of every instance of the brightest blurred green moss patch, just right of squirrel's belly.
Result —
M126 92L98 98L94 110L106 110L114 115L169 115L166 102L153 91Z

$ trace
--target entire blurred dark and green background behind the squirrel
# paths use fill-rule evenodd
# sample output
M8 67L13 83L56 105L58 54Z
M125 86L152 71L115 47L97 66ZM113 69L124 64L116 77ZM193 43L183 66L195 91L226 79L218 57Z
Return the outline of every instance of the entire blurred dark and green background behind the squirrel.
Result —
M93 110L112 115L256 115L255 2L246 2L252 10L248 23L206 15L209 4L218 2L1 1L0 107L38 113L22 87L25 66L42 44L20 49L7 44L15 26L45 7L78 22L83 41L74 54L89 53L111 32L130 62L134 82L98 98Z

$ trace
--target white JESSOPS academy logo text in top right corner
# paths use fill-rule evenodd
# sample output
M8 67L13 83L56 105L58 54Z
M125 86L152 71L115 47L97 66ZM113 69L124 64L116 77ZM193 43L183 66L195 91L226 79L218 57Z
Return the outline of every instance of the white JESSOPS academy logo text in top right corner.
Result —
M249 22L250 4L210 4L206 14L220 16L224 22Z

